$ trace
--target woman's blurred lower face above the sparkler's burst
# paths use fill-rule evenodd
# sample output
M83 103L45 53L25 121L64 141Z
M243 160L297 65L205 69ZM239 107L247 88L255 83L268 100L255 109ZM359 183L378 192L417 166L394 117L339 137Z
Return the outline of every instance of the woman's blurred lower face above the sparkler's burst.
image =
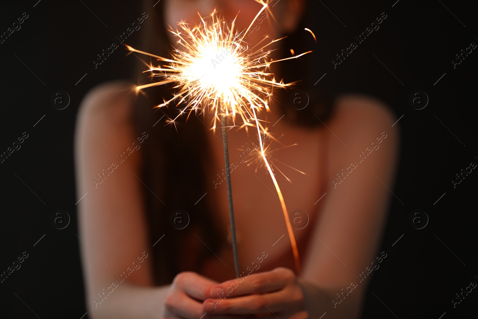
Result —
M246 41L249 44L257 44L266 35L277 39L284 32L292 32L304 9L303 0L279 0L279 2L272 0L269 2L271 3L269 8L279 25L264 11L255 20L253 30L247 35ZM173 29L176 29L176 25L180 21L197 25L201 22L198 12L202 17L207 17L216 9L229 25L237 16L236 31L245 31L261 8L262 4L255 0L166 0L165 21ZM169 41L173 44L177 41L172 33L169 33Z

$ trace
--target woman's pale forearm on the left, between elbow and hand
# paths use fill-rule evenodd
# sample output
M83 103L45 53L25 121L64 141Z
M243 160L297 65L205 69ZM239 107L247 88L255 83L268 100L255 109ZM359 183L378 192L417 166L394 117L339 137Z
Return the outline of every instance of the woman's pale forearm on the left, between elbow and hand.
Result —
M88 316L92 319L161 318L169 285L147 287L122 283L100 297L87 294ZM88 296L89 295L89 296Z

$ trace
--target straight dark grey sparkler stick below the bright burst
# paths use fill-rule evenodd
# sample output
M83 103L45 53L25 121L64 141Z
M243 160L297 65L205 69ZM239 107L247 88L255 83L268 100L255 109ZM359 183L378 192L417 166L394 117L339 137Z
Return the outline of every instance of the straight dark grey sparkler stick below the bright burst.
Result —
M228 185L228 203L229 203L229 220L231 222L231 238L232 251L234 253L234 268L236 269L236 277L239 278L239 258L238 247L236 241L236 225L234 222L234 206L232 205L232 187L231 187L231 173L228 172L229 165L229 146L228 146L228 132L226 128L226 110L224 102L221 102L221 122L222 122L222 142L224 143L224 162L226 163L226 182Z

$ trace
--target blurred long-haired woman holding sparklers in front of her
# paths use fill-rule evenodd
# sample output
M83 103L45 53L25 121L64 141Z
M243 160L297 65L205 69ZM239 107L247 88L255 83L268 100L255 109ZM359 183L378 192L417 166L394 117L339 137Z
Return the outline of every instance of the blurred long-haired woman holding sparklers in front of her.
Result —
M145 1L145 8L139 49L164 56L166 41L175 42L163 34L165 24L194 24L197 12L207 16L217 8L226 21L240 11L237 26L244 28L261 5L163 0ZM305 1L282 0L271 9L278 23L262 17L249 43L294 33ZM158 121L177 110L152 113L151 107L171 92L145 90L147 97L135 99L130 88L114 82L93 89L76 128L77 194L87 193L78 215L90 317L358 318L367 281L356 275L383 257L377 249L391 195L384 185L393 185L398 154L397 125L386 106L353 95L329 105L314 88L311 105L293 110L283 106L287 97L276 96L278 106L267 114L270 132L284 145L297 144L274 151L274 158L291 179L279 179L291 220L299 218L298 276L271 178L249 165L254 154L243 152L257 136L228 131L231 162L237 158L238 165L231 179L244 274L236 278L220 130L209 131L207 114L191 115L177 132L164 127Z

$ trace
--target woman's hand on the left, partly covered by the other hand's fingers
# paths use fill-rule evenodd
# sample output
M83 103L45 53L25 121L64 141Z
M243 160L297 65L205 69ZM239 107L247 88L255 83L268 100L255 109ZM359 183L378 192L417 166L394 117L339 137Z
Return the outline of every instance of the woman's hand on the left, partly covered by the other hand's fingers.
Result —
M244 316L209 316L201 303L210 297L217 281L194 272L182 272L174 277L164 300L163 319L239 319Z

